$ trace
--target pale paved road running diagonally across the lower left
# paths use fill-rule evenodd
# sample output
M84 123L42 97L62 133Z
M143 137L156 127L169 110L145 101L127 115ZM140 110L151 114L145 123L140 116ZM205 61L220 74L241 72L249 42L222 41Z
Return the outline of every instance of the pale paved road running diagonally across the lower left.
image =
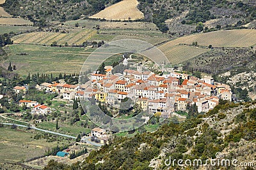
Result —
M10 123L1 123L1 124L4 124L4 125L13 125L13 124L10 124ZM28 126L26 125L20 125L20 124L14 124L14 125L17 125L19 127L26 127L28 128ZM72 138L72 139L76 139L75 136L70 136L70 135L67 135L67 134L61 134L61 133L58 133L58 132L53 132L53 131L48 131L48 130L45 130L45 129L40 129L40 128L37 128L35 126L31 126L30 127L31 129L35 129L36 131L42 131L42 132L46 132L46 133L50 133L50 134L56 134L56 135L59 135L59 136L64 136L64 137L67 137L67 138ZM94 143L92 141L90 141L90 137L85 137L83 138L85 139L86 143L89 143L90 145L94 145L94 146L102 146L102 144L100 143Z

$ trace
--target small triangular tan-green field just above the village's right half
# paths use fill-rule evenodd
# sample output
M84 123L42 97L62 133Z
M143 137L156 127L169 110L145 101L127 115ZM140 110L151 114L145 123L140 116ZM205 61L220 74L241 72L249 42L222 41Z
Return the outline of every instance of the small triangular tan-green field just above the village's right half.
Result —
M186 45L160 46L159 49L164 53L164 55L166 55L171 64L184 62L200 55L201 53L209 51L206 48Z

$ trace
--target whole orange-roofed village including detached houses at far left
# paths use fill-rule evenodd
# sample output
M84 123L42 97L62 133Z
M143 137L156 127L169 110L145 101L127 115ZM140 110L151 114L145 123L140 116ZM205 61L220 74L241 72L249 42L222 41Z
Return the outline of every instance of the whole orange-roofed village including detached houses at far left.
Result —
M124 64L124 63L123 63ZM112 66L105 67L105 74L92 73L90 81L83 85L60 83L41 83L36 89L46 93L57 93L67 101L74 99L92 99L109 106L122 103L125 98L136 101L142 110L149 113L161 113L162 117L171 117L174 111L186 111L195 104L198 113L212 110L219 100L232 101L229 85L218 83L211 76L196 78L188 74L177 73L173 69L163 69L163 75L145 71L138 64L136 70L125 69L122 74L112 74ZM26 91L26 87L14 87L15 92ZM32 108L32 114L51 113L51 108L36 101L19 101Z

